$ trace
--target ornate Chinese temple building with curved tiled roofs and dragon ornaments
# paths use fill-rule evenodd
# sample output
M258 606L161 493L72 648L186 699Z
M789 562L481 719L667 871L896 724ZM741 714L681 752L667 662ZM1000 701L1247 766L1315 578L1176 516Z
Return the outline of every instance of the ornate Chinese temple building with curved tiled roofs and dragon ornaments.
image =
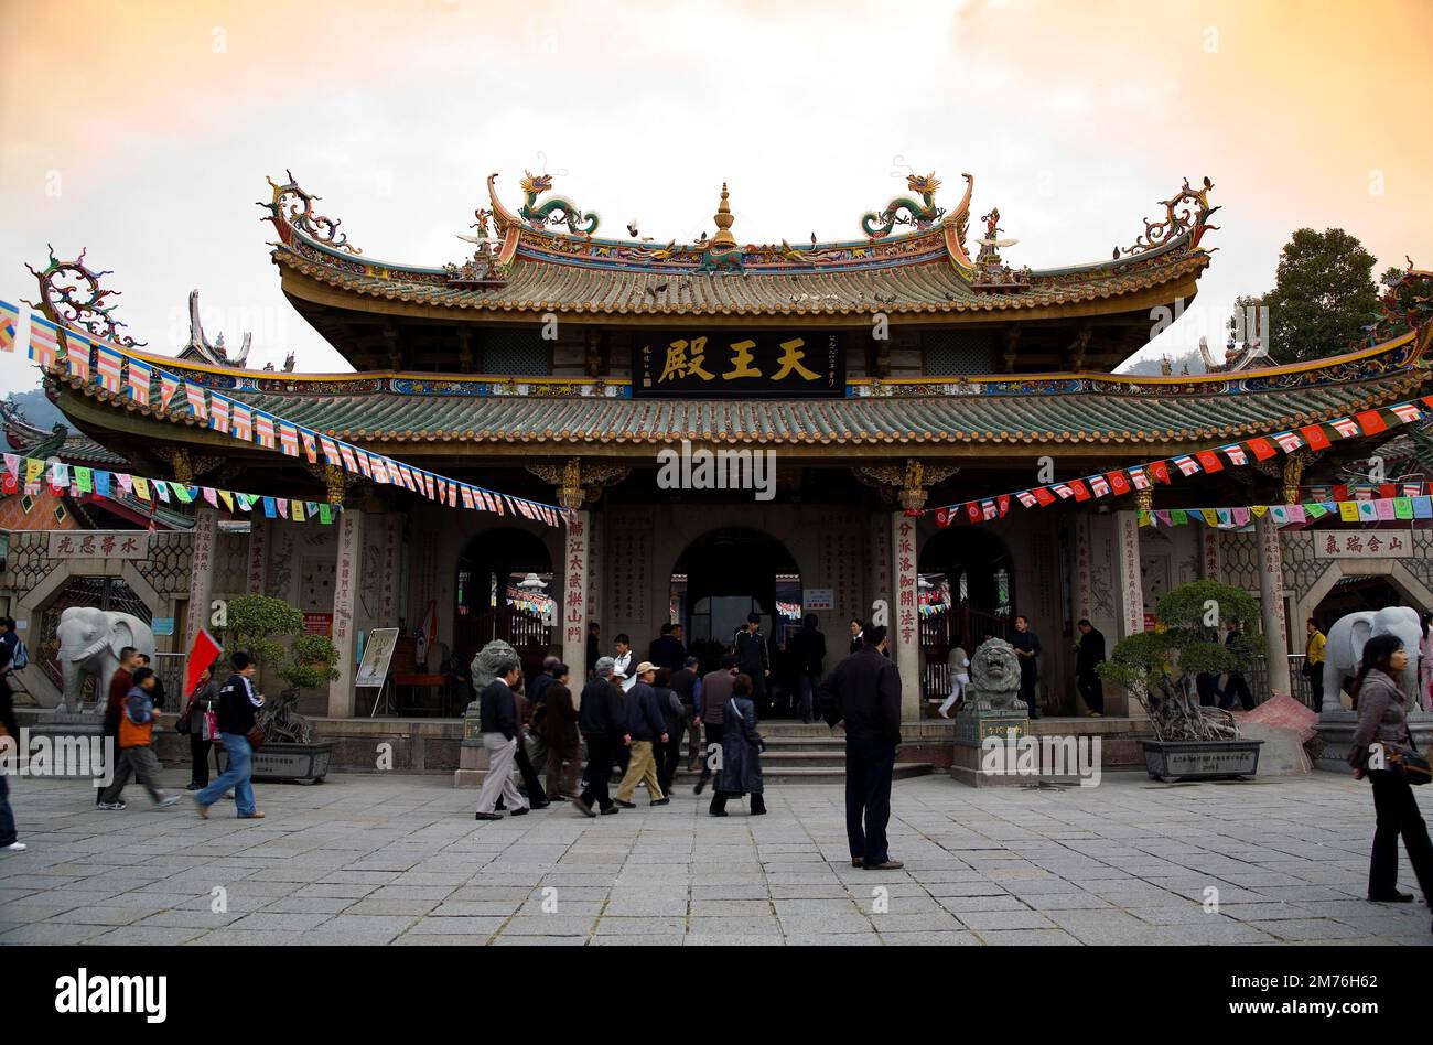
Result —
M828 668L848 621L877 616L914 722L923 698L944 695L950 644L1005 635L1016 614L1043 641L1046 714L1075 715L1075 622L1091 618L1113 644L1191 579L1260 598L1270 641L1257 682L1285 692L1303 619L1348 578L1377 576L1433 606L1426 522L1400 523L1403 555L1371 559L1324 555L1320 525L1281 530L1267 513L1227 528L1139 525L1161 509L1297 503L1310 482L1347 482L1340 469L1371 453L1371 436L1168 483L1075 482L1050 506L1012 502L1427 391L1426 330L1311 364L1112 373L1198 291L1218 209L1208 179L1185 181L1142 231L1138 215L1122 219L1112 234L1138 235L1103 259L1045 269L1006 259L1016 241L1002 238L1010 219L997 208L972 231L970 175L949 209L934 173L911 175L909 195L861 215L858 238L765 245L739 242L725 185L709 237L661 244L635 229L606 238L596 212L550 195L546 175L522 179L516 211L499 182L487 179L461 237L473 252L436 265L370 258L292 176L271 182L284 294L354 373L246 370L248 345L225 356L198 318L178 357L126 353L254 416L555 505L559 526L245 446L183 396L162 406L158 373L136 403L47 370L85 439L138 473L344 509L332 526L254 512L238 533L196 500L186 539L208 565L186 571L181 591L150 585L152 612L179 619L173 648L214 599L249 591L331 614L344 672L318 711L345 718L368 714L353 665L378 626L434 621L431 649L466 659L496 636L577 667L589 622L603 652L625 632L641 654L663 622L682 624L688 645L725 644L757 612L780 671L804 614L827 635ZM10 581L17 569L49 576L44 549L16 543ZM17 616L43 612L44 593L20 583L10 595ZM1111 694L1106 711L1131 708Z

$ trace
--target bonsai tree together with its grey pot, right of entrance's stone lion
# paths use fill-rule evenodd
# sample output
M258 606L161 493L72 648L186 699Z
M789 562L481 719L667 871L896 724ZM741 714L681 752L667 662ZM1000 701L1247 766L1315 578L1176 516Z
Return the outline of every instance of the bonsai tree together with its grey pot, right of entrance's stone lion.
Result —
M1197 677L1241 672L1257 661L1264 636L1250 625L1260 618L1258 602L1238 588L1195 581L1162 595L1155 616L1155 631L1122 638L1099 667L1149 715L1149 776L1171 783L1252 776L1262 741L1241 740L1234 715L1201 705ZM1244 625L1234 645L1219 634L1230 621Z

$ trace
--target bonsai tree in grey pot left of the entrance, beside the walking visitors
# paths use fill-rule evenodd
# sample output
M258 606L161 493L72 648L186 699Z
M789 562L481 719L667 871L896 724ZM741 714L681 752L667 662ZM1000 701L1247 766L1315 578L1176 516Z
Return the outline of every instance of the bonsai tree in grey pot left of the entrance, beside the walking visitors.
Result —
M285 641L281 641L284 636ZM324 635L304 634L304 614L282 599L244 595L229 602L225 638L231 649L248 649L288 682L277 697L267 697L258 714L265 740L254 754L255 780L310 780L322 783L332 741L320 741L312 724L298 714L307 688L338 678L338 649Z

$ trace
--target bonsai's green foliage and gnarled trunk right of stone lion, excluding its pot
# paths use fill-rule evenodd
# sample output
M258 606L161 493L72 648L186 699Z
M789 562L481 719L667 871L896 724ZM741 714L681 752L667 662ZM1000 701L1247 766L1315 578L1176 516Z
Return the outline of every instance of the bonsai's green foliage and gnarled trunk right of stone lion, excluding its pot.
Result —
M1258 615L1258 602L1238 588L1214 581L1181 585L1155 603L1158 628L1116 642L1099 674L1134 694L1159 741L1238 740L1234 715L1199 704L1197 677L1254 664L1264 636L1248 624ZM1241 641L1227 645L1219 628L1231 621L1245 628Z

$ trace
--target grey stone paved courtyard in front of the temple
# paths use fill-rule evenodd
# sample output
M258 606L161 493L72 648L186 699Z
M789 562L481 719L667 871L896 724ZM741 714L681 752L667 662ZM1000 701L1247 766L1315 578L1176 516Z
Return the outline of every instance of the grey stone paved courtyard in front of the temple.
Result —
M1422 903L1361 899L1373 803L1336 774L1174 787L1121 774L1068 790L901 781L901 872L850 866L840 787L772 788L770 816L734 806L727 820L689 788L659 808L638 794L615 817L553 806L479 824L476 791L447 778L338 776L258 786L265 820L234 820L222 803L201 821L188 798L155 811L130 787L129 810L99 813L85 784L20 780L30 850L0 854L0 943L1433 940ZM1414 889L1406 862L1400 884ZM1209 886L1217 913L1202 907ZM216 887L225 913L211 910Z

